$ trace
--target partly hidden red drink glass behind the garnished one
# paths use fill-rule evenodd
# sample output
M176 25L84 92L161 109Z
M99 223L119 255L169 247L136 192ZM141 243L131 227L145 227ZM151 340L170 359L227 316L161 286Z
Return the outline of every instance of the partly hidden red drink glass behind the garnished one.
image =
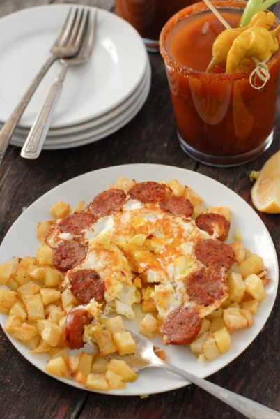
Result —
M115 0L117 15L139 31L150 52L159 50L160 31L166 20L195 0ZM199 0L196 0L199 1Z

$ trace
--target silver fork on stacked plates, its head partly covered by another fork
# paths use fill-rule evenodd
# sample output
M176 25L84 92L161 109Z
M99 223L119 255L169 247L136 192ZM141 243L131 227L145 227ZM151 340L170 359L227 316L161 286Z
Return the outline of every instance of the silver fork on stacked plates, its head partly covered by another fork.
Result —
M25 159L37 159L38 156L40 156L42 146L49 131L49 126L52 124L54 110L59 102L59 97L61 95L63 82L68 68L73 65L85 64L91 56L95 39L97 15L98 8L95 8L95 14L93 20L91 21L91 14L88 10L86 16L86 33L79 53L75 57L61 60L63 62L63 67L55 79L54 84L52 84L52 87L49 89L47 98L45 99L45 102L43 103L42 108L40 109L22 147L21 156Z

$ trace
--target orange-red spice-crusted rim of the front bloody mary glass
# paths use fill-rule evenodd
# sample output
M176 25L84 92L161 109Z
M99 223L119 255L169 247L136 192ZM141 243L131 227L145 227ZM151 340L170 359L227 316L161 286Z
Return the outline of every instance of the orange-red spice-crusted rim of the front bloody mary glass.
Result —
M212 5L215 6L218 10L243 10L246 6L247 2L242 0L214 0L211 1ZM184 77L188 77L189 75L192 75L193 78L207 78L209 81L215 81L219 80L219 82L228 82L228 80L247 80L250 75L251 71L254 68L251 68L246 71L238 71L237 73L206 73L205 71L198 71L194 70L192 68L189 68L185 66L184 64L181 64L179 61L177 61L175 58L171 57L169 52L166 50L166 39L169 35L169 32L172 27L176 26L178 22L181 20L189 17L198 15L201 12L211 12L211 10L208 8L208 6L203 2L194 3L190 6L187 6L186 8L183 8L182 10L179 10L175 15L171 16L171 18L166 22L164 27L162 28L162 31L160 33L160 53L162 54L162 58L164 59L164 62L166 65L170 66L175 70L177 73ZM279 24L279 20L277 17L275 17L275 20ZM280 41L280 34L277 36L277 38ZM275 52L272 57L267 61L266 65L268 70L280 59L280 48Z

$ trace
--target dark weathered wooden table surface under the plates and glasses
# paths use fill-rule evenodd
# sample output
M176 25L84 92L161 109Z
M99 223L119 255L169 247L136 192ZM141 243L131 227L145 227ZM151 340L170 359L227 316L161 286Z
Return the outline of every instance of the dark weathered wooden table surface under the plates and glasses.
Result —
M0 17L49 0L1 0ZM74 3L74 1L72 2ZM93 1L80 1L93 4ZM111 6L111 0L104 0ZM277 10L278 9L278 10ZM274 9L280 15L280 7ZM0 242L22 210L54 186L91 170L126 163L160 163L187 168L219 180L251 204L251 170L280 148L280 101L274 142L251 163L235 168L204 166L190 159L178 144L164 64L160 54L149 54L152 86L138 115L120 131L98 142L73 149L43 151L29 161L9 146L0 168ZM1 57L0 57L1 59ZM5 80L0 81L3 84ZM280 215L258 214L280 254ZM280 411L279 293L272 314L254 342L209 381ZM0 330L0 411L8 419L241 419L240 413L195 385L163 394L116 397L79 390L43 374L27 362Z

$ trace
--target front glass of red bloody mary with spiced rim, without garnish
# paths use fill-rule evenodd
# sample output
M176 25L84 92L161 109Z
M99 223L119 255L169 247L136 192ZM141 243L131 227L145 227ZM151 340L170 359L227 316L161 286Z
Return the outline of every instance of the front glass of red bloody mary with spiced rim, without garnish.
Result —
M246 3L222 0L212 4L233 26ZM196 42L195 28L201 20L202 41ZM192 25L193 32L188 34ZM173 15L160 34L180 145L189 156L210 166L235 166L263 153L273 139L277 105L279 50L266 63L270 78L261 89L249 82L254 68L238 73L205 72L212 47L201 45L203 36L210 31L214 41L224 29L205 3L196 3ZM196 69L178 59L188 49ZM256 85L260 83L257 78Z

